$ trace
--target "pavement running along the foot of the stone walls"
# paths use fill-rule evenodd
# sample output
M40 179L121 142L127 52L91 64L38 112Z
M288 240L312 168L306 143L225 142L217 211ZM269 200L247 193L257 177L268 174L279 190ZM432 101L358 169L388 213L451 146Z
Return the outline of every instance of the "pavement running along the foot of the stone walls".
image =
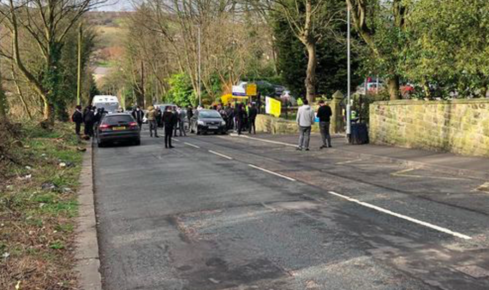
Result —
M249 135L246 135L249 136ZM250 137L275 142L283 142L289 146L297 144L295 135L258 134ZM400 148L384 145L349 145L343 136L332 138L333 148L322 149L357 159L376 157L384 161L402 164L406 167L426 168L448 174L467 176L475 179L489 180L489 158L461 156L447 152L435 152L420 149ZM317 150L321 144L319 134L311 135L311 150Z

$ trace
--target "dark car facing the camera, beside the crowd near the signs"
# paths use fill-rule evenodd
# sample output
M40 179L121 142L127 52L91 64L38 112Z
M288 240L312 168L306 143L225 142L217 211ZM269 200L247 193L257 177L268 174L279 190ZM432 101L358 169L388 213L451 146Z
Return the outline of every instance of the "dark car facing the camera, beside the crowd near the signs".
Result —
M218 111L199 110L192 119L192 130L197 135L207 134L208 132L226 134L226 122Z

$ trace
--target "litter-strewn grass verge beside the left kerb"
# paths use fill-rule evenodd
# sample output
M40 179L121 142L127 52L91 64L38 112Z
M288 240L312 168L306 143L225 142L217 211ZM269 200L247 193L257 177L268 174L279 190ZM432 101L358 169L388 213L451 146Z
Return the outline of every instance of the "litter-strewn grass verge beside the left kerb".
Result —
M0 289L76 289L74 227L83 153L72 124L20 129L0 176Z

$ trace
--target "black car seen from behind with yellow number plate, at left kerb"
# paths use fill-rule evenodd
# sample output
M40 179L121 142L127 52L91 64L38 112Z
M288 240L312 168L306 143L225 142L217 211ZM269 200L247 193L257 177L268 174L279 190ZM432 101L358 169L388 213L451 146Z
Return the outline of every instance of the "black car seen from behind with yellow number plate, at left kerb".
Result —
M127 113L105 115L97 126L97 145L104 147L114 141L129 141L141 144L138 123Z

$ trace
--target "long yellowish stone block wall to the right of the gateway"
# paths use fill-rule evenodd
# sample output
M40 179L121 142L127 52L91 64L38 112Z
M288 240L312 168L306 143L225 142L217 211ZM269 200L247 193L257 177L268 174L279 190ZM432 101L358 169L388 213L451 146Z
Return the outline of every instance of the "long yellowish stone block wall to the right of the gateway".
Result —
M376 144L489 156L489 99L375 102L369 134Z

